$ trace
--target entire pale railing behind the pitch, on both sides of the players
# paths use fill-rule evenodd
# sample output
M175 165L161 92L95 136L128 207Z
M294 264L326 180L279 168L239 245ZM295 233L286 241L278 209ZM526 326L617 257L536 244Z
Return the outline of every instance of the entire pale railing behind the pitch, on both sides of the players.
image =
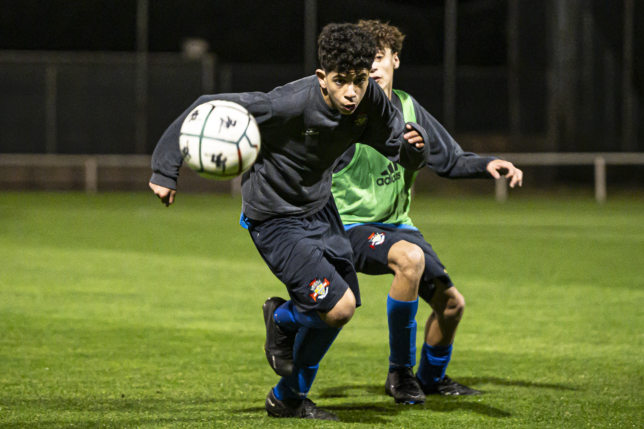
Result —
M489 154L510 161L517 167L554 165L594 165L595 199L606 200L606 165L644 165L644 152L544 152ZM0 154L0 167L84 167L86 192L97 192L99 167L150 168L149 155L62 155ZM238 194L238 181L231 180L232 194ZM507 179L496 181L498 201L507 199Z

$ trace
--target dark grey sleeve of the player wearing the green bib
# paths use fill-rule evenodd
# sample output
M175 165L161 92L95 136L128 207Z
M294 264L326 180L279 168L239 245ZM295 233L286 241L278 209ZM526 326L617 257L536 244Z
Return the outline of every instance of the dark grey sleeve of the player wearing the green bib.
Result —
M413 99L413 98L412 98ZM443 178L491 178L486 167L493 156L478 156L473 152L464 152L459 143L451 138L450 133L413 99L416 120L427 131L429 146L427 167Z

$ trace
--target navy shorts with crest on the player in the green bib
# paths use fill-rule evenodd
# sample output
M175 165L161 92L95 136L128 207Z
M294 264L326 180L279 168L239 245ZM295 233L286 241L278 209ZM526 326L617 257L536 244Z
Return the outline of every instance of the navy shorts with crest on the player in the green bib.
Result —
M434 278L439 278L448 288L454 286L445 266L419 230L393 225L363 224L349 228L346 233L354 250L355 271L359 273L393 274L393 270L389 268L389 250L393 244L404 240L416 244L425 254L425 271L418 287L419 297L430 302L436 289Z

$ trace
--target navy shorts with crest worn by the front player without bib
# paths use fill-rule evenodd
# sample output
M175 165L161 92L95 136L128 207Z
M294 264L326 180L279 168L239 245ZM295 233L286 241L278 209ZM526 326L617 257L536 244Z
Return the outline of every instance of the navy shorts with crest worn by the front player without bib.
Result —
M360 305L353 251L333 197L307 217L245 220L261 257L300 311L327 313L346 288Z

